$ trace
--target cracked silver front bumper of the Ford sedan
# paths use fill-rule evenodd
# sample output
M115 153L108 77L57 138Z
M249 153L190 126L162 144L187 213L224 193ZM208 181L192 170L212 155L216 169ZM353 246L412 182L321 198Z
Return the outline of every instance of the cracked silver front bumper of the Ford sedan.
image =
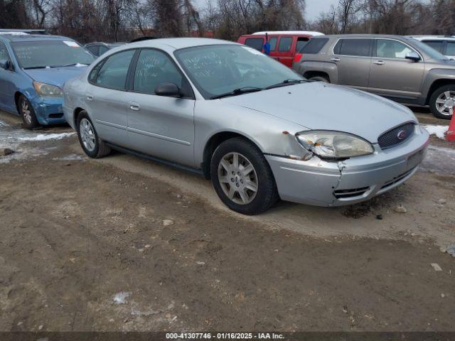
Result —
M418 130L418 131L417 131ZM429 135L416 129L405 143L343 161L308 161L266 155L282 200L316 206L350 205L404 183L423 161Z

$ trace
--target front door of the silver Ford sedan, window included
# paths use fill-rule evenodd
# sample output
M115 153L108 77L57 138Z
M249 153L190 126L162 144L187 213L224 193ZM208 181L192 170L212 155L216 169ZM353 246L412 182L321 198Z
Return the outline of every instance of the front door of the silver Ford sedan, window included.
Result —
M182 97L155 94L156 86L174 83ZM188 81L161 50L141 50L129 92L130 148L186 166L194 166L194 104Z

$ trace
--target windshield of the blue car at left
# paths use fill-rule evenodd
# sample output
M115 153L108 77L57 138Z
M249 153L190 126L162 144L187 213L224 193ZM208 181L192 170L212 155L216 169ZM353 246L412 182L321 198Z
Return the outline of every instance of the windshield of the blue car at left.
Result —
M93 56L72 40L20 41L11 47L23 69L89 65L93 61Z

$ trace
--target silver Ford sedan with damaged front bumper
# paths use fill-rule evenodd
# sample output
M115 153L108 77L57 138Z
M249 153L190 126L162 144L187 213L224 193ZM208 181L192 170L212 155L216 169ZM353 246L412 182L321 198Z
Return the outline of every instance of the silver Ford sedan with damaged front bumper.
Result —
M279 198L336 206L410 178L429 136L400 104L309 82L245 45L145 40L66 82L65 118L92 158L112 148L200 173L254 215Z

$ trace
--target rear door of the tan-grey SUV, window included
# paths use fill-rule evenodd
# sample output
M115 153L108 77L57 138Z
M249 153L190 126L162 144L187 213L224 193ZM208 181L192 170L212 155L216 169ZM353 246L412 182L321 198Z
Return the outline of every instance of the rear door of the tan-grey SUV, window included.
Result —
M333 47L331 62L337 65L338 84L368 90L371 38L343 38Z

